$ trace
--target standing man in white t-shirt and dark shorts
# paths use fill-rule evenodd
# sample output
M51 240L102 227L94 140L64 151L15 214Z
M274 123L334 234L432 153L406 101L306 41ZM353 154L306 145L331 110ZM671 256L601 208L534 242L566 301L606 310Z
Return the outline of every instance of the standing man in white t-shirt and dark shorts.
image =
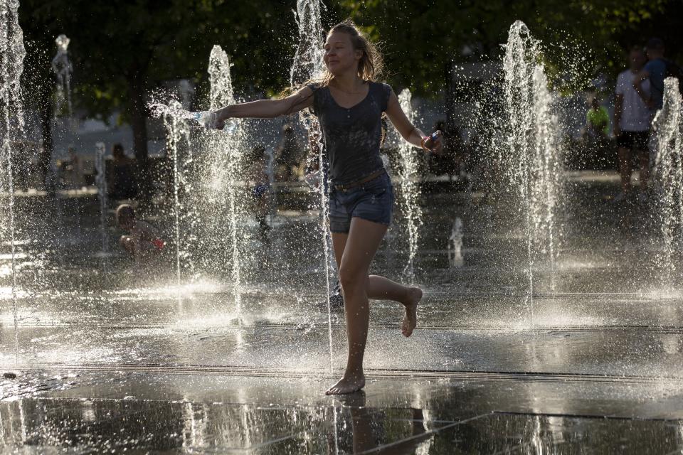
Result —
M616 98L614 105L614 135L619 147L619 173L621 175L621 193L615 202L623 200L631 189L631 157L638 154L640 161L640 193L638 199L643 201L647 197L647 179L650 176L650 153L647 142L650 138L650 123L652 110L647 107L642 97L633 87L635 76L640 73L647 58L641 48L632 48L629 54L628 70L620 73L617 78ZM650 81L642 82L642 90L650 92Z

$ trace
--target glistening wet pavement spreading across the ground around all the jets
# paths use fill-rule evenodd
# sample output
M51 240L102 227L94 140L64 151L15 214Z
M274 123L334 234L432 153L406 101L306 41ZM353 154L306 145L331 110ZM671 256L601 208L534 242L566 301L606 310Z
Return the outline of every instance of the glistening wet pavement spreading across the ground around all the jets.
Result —
M657 262L657 227L647 207L610 203L613 186L571 185L580 203L558 220L552 264L529 263L505 201L426 195L420 326L403 338L401 309L373 302L369 382L349 397L322 393L346 341L314 216L280 217L278 254L250 240L235 299L222 272L179 286L172 261L103 262L87 200L68 242L38 237L49 220L22 198L16 332L8 245L0 257L0 367L18 373L0 380L2 450L683 453L683 293ZM464 262L448 267L455 216ZM393 278L400 228L374 266Z

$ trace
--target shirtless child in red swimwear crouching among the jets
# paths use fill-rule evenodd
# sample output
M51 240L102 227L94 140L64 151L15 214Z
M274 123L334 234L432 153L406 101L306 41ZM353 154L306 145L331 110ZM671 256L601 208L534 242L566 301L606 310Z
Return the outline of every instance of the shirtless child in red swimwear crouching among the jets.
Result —
M143 220L138 220L131 205L121 204L116 209L116 222L129 235L122 235L119 245L134 257L135 262L143 262L161 255L166 242L157 228Z

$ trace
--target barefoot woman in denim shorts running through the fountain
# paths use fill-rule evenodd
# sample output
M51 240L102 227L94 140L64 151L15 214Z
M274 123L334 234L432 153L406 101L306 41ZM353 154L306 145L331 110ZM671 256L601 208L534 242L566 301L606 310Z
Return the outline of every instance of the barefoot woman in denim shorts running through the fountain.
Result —
M382 57L351 21L338 23L324 45L325 74L280 100L258 100L221 107L213 124L222 129L231 118L274 118L311 109L317 116L329 162L329 227L339 281L344 293L348 358L344 376L327 395L356 392L365 386L363 355L369 326L369 299L403 305L401 331L411 336L417 324L422 290L369 275L393 206L393 186L380 157L382 114L408 143L440 151L440 132L431 137L406 117L389 85L376 82Z

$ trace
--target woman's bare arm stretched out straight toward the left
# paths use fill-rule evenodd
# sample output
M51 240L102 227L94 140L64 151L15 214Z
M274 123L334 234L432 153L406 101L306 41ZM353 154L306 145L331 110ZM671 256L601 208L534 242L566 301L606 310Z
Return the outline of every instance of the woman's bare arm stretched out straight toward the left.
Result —
M293 95L280 100L258 100L228 105L217 109L217 127L223 128L227 119L231 118L256 118L272 119L281 115L293 114L306 107L313 105L313 90L310 87L303 87Z

